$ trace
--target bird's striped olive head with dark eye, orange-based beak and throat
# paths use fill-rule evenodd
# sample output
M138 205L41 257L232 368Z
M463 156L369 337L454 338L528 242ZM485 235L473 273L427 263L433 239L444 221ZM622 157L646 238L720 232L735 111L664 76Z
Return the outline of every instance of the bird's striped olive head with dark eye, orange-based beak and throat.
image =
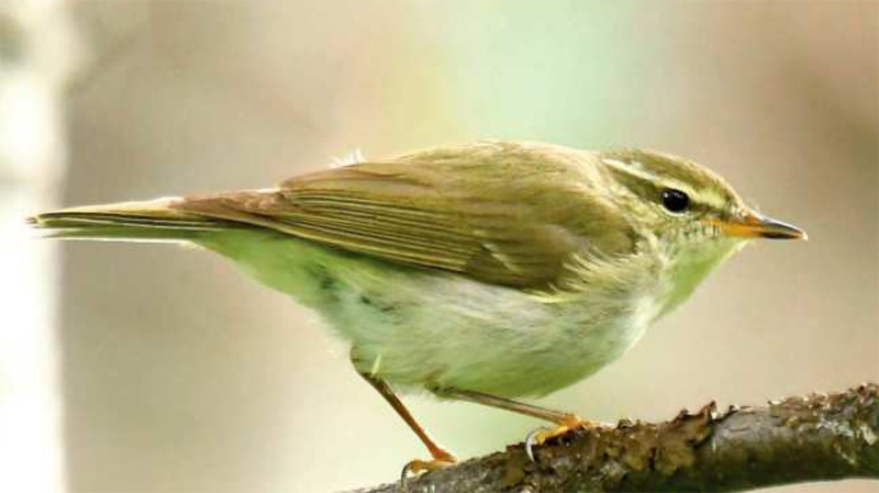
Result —
M805 239L805 233L745 204L720 176L676 156L647 150L601 155L609 200L670 262L667 312L748 240Z

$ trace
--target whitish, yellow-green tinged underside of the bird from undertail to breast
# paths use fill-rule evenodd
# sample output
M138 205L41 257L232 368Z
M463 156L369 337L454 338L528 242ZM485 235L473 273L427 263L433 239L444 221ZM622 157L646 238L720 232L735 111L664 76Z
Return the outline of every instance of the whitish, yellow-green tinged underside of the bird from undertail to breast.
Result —
M351 341L359 371L403 391L544 395L622 356L653 317L634 294L549 303L289 237L241 235L204 245L318 311Z

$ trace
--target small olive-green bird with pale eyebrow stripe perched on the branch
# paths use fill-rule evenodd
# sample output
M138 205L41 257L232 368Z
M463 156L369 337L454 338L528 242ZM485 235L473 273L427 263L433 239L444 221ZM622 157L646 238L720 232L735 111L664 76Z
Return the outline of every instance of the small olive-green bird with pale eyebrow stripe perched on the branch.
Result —
M398 394L588 426L525 402L620 358L725 259L805 239L719 175L639 148L480 141L354 159L277 187L77 206L27 219L60 239L194 245L319 313L431 455L457 458Z

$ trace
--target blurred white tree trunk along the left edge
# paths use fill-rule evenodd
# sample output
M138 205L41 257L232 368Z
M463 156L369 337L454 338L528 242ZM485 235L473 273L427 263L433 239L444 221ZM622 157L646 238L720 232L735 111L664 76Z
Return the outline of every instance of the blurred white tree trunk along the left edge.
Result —
M57 204L75 41L64 0L0 3L0 491L65 489L57 250L23 219Z

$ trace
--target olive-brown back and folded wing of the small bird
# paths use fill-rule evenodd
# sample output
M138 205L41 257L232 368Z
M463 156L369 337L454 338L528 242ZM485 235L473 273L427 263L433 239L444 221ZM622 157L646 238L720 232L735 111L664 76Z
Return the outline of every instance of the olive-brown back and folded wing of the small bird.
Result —
M539 149L436 149L179 206L483 282L544 287L590 246L597 225L608 231L609 216L583 191L588 167Z

